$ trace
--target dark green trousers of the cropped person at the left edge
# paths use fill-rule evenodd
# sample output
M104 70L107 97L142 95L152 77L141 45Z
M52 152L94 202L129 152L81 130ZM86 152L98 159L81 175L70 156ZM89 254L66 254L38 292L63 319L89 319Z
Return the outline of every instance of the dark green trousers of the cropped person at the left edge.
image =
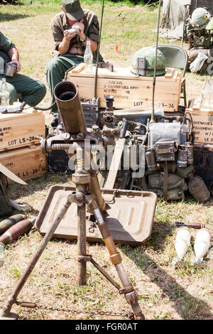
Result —
M3 77L6 78L6 85L9 89L9 104L21 99L29 106L34 107L45 97L46 87L43 82L21 74L16 74L14 77L0 75L0 80Z

